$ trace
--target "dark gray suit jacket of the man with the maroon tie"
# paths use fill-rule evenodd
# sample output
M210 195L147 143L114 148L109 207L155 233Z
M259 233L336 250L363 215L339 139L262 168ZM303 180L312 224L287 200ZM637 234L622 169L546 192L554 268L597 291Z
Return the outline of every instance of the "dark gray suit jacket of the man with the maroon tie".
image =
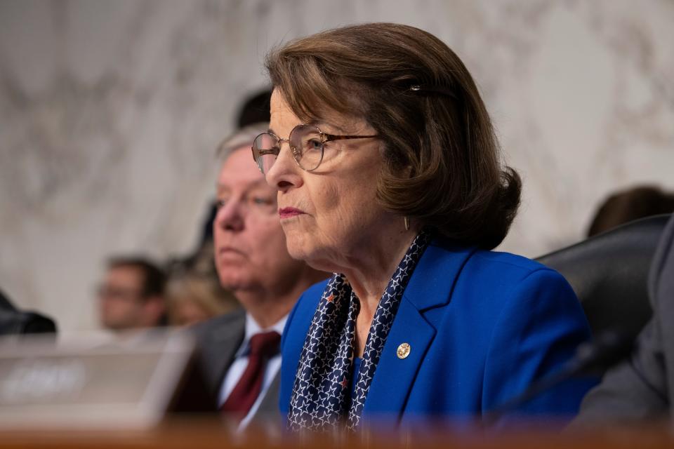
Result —
M197 337L197 354L204 380L214 404L218 403L220 387L234 355L244 340L246 311L243 309L199 323L191 328ZM279 375L272 381L260 403L255 421L276 420L279 413Z

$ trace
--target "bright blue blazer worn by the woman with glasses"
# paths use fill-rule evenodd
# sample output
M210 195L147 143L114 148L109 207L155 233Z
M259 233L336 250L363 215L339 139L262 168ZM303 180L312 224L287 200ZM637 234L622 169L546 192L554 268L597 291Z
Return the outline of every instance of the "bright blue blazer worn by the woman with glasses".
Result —
M279 402L284 415L325 285L309 288L286 323ZM589 338L579 300L554 270L517 255L433 241L404 291L362 420L480 417L556 373ZM397 357L401 343L411 347L407 358ZM565 382L510 415L574 415L595 383Z

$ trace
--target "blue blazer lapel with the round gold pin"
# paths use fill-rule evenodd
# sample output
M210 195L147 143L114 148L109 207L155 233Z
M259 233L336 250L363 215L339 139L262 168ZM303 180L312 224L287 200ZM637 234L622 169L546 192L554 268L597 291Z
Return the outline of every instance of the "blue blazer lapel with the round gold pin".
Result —
M365 422L402 417L407 398L419 367L435 338L435 328L426 321L423 311L446 305L458 274L476 248L433 241L424 251L393 320L391 330L372 379L363 407ZM401 344L409 344L409 354L401 358ZM392 416L395 415L395 416Z

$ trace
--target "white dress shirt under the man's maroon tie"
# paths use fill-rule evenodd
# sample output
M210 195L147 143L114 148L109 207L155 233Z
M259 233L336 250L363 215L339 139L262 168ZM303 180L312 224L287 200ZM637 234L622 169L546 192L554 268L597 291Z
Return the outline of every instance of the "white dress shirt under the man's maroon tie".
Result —
M263 329L260 328L260 325L253 319L251 314L246 313L246 333L244 336L244 341L241 342L241 346L239 346L237 354L234 355L234 362L232 362L232 366L230 366L230 369L227 370L227 374L225 374L225 380L223 380L223 384L220 387L220 396L219 396L220 401L218 402L218 406L222 406L223 403L227 401L227 398L232 393L232 390L234 389L234 387L237 386L237 383L239 383L239 379L241 379L241 376L244 374L246 366L248 366L248 356L250 354L251 337L257 333L270 332L272 330L277 331L279 335L283 335L283 328L286 326L287 319L288 315L284 316L282 319L277 321L277 323L274 326ZM269 386L272 384L272 381L274 380L274 377L276 377L280 368L281 368L281 352L279 351L279 354L273 356L267 362L267 366L265 368L265 375L262 380L262 389L260 389L260 394L258 395L258 398L255 400L255 403L253 403L253 406L251 407L251 410L249 410L248 415L246 415L244 419L241 420L241 422L239 423L238 427L239 431L245 429L246 426L248 426L249 422L251 422L251 419L253 419L253 416L255 415L256 411L258 410L258 408L260 408L260 403L262 402L262 399L265 397L265 394L267 394L267 390L269 389Z

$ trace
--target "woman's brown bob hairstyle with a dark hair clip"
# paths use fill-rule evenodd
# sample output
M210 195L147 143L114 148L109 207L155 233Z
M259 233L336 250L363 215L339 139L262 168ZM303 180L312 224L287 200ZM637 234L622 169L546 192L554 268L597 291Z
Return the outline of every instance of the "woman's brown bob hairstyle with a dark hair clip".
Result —
M272 50L266 67L300 120L337 112L376 130L384 208L461 243L503 241L522 183L501 168L477 86L440 39L407 25L353 25Z

